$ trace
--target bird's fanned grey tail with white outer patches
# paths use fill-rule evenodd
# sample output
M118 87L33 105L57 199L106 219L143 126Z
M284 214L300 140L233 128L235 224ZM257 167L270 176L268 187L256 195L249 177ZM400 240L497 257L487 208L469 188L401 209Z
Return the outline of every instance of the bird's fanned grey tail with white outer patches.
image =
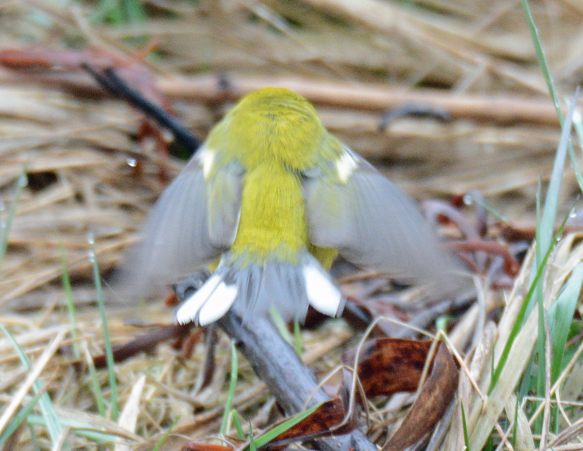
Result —
M194 321L205 326L220 319L231 306L243 319L265 315L272 306L286 320L302 321L308 305L329 316L342 313L345 299L340 289L307 251L297 264L240 265L229 257L226 254L208 281L178 307L178 323Z

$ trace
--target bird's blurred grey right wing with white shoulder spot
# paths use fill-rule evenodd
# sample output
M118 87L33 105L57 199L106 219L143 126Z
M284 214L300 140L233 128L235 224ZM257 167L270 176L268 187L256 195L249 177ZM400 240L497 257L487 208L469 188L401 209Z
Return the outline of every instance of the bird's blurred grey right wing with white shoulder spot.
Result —
M359 267L431 284L440 294L459 288L459 264L413 200L349 148L328 164L327 175L306 176L303 184L313 244L335 247Z

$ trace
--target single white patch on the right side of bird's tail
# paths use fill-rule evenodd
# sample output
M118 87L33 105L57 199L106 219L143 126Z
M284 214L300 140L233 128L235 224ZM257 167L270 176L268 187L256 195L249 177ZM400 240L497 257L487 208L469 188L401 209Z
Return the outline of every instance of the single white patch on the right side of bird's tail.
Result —
M342 307L342 293L325 274L313 263L304 267L305 291L308 302L314 309L328 316L337 316Z

